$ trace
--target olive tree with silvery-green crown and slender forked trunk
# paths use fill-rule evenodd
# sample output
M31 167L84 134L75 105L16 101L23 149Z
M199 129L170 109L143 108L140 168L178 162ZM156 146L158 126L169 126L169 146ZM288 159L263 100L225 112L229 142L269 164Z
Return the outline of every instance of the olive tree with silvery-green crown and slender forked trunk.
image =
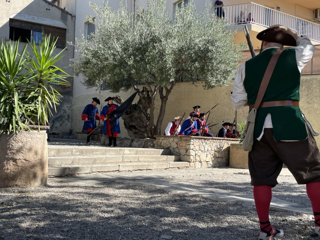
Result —
M160 134L168 97L181 76L204 89L226 85L242 58L243 45L235 43L226 21L210 13L211 5L199 12L189 2L177 7L173 17L165 5L165 0L149 0L133 16L122 4L118 11L112 11L108 2L91 4L97 16L95 22L87 17L95 24L92 41L76 39L79 58L74 69L84 76L84 85L98 90L106 84L113 92L134 88L137 82L147 86L150 138ZM157 93L161 107L155 124Z

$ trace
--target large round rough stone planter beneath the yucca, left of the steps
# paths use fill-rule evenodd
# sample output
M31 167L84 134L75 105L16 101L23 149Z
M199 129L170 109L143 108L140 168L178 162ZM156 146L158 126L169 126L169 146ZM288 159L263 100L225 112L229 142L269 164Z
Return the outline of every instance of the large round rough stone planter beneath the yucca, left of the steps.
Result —
M0 135L0 187L32 188L48 180L48 144L41 126L29 132Z

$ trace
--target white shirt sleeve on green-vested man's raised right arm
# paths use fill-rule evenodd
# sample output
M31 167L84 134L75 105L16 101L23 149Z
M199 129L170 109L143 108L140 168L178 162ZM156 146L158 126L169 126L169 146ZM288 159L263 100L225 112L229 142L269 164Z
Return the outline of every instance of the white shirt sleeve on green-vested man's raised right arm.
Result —
M297 66L301 73L302 68L304 68L308 61L311 60L316 47L306 35L300 35L297 39L297 46L291 48L296 50Z

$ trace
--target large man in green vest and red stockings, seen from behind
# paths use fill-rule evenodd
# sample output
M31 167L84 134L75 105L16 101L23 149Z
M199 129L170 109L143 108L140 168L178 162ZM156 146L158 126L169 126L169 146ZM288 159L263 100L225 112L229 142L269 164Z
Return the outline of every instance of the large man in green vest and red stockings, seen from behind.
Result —
M283 230L272 228L269 222L271 188L278 184L283 164L298 184L306 184L315 217L311 236L320 236L320 153L313 137L317 133L299 108L301 70L312 58L315 46L306 35L280 25L265 29L257 38L262 41L260 54L247 60L235 76L231 99L236 109L254 105L272 55L284 45L292 46L281 53L257 109L254 143L248 156L260 220L259 240L283 236Z

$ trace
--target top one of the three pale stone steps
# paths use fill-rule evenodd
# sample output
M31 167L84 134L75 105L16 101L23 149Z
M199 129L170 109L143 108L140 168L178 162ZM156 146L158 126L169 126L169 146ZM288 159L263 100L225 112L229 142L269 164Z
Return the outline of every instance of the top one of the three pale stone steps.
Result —
M169 149L156 148L109 148L105 146L48 146L48 156L125 156L125 155L171 155Z

